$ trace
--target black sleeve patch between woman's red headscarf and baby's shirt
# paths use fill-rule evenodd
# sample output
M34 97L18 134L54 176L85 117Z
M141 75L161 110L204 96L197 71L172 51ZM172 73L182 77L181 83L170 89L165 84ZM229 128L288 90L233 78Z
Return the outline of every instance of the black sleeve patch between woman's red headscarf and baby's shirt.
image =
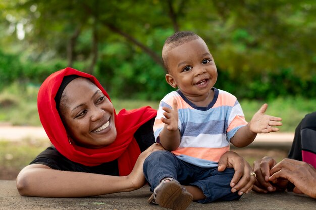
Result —
M139 145L140 151L145 151L149 146L155 143L153 135L153 123L155 117L140 126L135 132L134 137Z

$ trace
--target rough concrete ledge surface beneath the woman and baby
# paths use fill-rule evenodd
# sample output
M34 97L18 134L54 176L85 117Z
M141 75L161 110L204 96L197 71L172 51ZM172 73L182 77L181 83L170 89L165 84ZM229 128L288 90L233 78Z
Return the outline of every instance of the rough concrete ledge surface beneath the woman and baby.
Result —
M163 210L157 205L149 205L151 195L148 186L125 193L115 193L87 198L38 198L20 196L15 181L0 180L0 209L155 209ZM250 192L238 201L199 204L192 202L190 209L288 209L311 210L316 207L316 199L291 192L257 194Z

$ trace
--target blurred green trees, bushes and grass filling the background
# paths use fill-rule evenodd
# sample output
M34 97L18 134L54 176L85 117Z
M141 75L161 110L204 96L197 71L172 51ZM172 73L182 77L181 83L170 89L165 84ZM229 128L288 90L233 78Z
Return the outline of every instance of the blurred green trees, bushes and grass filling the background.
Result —
M283 118L281 132L294 132L316 110L315 18L314 0L1 0L0 125L41 126L38 88L67 66L95 75L117 110L156 108L172 90L163 43L190 30L215 59L215 87L238 98L246 120L267 102L267 114ZM0 139L0 169L38 153L19 159L22 143Z

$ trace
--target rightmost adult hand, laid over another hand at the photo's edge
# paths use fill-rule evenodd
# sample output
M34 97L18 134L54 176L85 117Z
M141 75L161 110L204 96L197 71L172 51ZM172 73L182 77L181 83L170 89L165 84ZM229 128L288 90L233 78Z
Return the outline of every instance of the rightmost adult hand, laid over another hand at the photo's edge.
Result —
M316 169L303 161L283 159L271 170L269 181L275 183L278 179L287 179L295 185L294 192L316 198Z

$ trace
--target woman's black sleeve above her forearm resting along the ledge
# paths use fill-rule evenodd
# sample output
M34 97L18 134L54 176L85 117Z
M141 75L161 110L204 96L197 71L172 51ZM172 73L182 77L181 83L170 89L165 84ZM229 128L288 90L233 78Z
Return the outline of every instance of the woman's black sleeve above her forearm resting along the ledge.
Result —
M117 160L103 163L98 166L85 166L67 159L54 147L48 147L46 150L41 152L30 164L43 164L52 169L62 171L87 172L119 176Z

